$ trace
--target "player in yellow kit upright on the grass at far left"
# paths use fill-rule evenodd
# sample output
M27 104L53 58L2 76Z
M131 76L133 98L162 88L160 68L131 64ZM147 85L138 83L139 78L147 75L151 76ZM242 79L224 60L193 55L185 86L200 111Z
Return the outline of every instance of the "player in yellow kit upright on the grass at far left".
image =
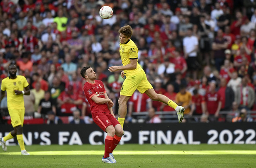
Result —
M17 67L15 65L10 65L10 76L2 80L0 102L2 101L2 98L5 96L6 90L7 107L11 117L12 127L14 129L10 131L10 133L7 136L2 137L0 139L0 143L2 145L2 149L6 151L7 149L5 142L17 136L17 140L20 144L21 154L29 155L29 153L27 153L27 151L25 150L22 135L22 126L25 114L23 95L30 95L30 88L26 78L22 75L16 75L16 73Z

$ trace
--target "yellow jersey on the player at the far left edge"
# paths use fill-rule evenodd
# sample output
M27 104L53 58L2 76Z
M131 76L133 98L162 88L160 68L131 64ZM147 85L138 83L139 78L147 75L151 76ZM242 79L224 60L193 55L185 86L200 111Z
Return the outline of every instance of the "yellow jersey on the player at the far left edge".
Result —
M7 93L7 107L10 109L25 109L23 94L15 95L14 90L24 90L29 84L27 79L22 75L17 75L17 78L10 79L9 77L2 80L1 90Z

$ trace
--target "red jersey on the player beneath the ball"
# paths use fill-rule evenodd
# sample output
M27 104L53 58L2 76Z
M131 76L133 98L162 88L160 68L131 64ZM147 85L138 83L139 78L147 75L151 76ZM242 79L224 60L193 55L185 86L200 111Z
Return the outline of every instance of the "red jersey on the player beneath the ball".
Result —
M94 102L91 98L94 95L97 95L98 97L105 98L104 93L107 91L104 88L104 85L102 81L100 80L95 80L95 83L89 83L86 82L84 85L84 92L85 96L89 102L89 105L91 106L91 111L92 111L92 117L96 112L105 112L105 113L110 113L107 103L105 104L97 104Z

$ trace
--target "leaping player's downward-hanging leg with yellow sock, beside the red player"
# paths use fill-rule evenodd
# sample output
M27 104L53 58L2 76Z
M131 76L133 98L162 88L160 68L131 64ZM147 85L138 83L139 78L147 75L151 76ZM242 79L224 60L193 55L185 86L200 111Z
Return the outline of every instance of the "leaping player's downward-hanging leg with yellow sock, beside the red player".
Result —
M124 119L127 114L127 102L129 100L130 96L124 96L120 95L118 100L118 122L121 124L121 126L124 126Z

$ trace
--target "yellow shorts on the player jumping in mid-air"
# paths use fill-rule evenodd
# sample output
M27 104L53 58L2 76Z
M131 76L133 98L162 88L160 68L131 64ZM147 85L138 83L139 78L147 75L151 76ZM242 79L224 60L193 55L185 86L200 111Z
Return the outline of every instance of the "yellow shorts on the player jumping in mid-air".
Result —
M148 89L152 89L152 85L147 80L146 73L142 70L135 75L128 75L122 85L120 95L132 96L136 89L140 93L144 93Z

